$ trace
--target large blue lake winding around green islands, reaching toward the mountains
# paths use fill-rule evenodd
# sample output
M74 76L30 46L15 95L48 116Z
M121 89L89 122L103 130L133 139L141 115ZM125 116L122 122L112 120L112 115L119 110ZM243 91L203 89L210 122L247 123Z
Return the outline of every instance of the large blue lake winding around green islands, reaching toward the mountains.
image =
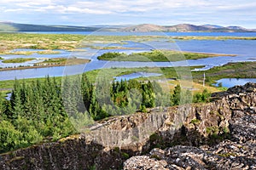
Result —
M40 32L46 33L46 32ZM47 32L47 33L78 33L78 34L90 34L91 32ZM95 33L95 32L94 32ZM102 32L100 32L102 33ZM120 32L103 32L104 34L115 34L119 35ZM131 34L148 34L148 33L133 33L133 32L121 32L122 35ZM155 32L157 33L157 32ZM165 32L172 36L236 36L236 37L256 37L255 32ZM149 33L150 34L150 33ZM56 57L71 57L76 56L83 59L91 59L91 62L85 65L69 65L69 66L58 66L58 67L48 67L48 68L37 68L37 69L26 69L17 71L0 71L0 80L13 80L15 78L32 78L32 77L45 77L49 75L50 77L61 77L66 75L73 75L82 73L84 71L92 71L101 68L111 68L111 67L170 67L170 66L195 66L195 65L205 65L201 70L207 70L213 66L225 65L229 62L239 62L239 61L255 61L256 59L256 41L253 40L177 40L175 42L170 41L151 41L151 42L125 42L124 44L97 44L103 47L108 46L121 46L124 48L134 48L134 49L91 49L84 48L84 52L68 52L65 50L60 50L60 54L32 54L32 55L2 55L3 58L11 59L17 57L32 57L37 59L42 58L56 58ZM104 61L98 60L97 56L107 53L107 52L120 52L120 53L137 53L143 51L149 51L155 48L160 49L173 49L182 51L192 51L192 52L205 52L205 53L217 53L217 54L237 54L236 57L230 56L218 56L214 58L207 59L189 59L177 62L130 62L130 61ZM19 49L17 49L19 50ZM30 61L23 63L22 65L32 65L37 61ZM4 64L6 66L6 64ZM0 61L0 66L4 66ZM7 66L20 65L20 64L8 64Z

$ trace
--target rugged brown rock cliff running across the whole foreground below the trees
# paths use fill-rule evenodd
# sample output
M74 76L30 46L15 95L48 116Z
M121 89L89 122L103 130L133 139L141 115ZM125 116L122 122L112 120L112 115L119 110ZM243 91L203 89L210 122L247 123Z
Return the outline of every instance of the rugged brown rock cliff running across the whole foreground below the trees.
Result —
M255 106L256 84L247 83L212 94L211 103L113 117L2 154L0 169L255 169Z

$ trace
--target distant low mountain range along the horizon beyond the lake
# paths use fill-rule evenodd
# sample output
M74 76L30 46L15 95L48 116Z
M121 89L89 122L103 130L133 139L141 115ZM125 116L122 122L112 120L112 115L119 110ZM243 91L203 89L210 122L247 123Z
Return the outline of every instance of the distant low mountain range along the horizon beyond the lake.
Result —
M51 25L32 25L19 24L13 22L0 22L0 31L129 31L129 32L148 32L148 31L172 31L172 32L247 32L256 29L247 29L241 26L216 26L191 24L179 24L175 26L157 26L153 24L142 24L136 26L51 26Z

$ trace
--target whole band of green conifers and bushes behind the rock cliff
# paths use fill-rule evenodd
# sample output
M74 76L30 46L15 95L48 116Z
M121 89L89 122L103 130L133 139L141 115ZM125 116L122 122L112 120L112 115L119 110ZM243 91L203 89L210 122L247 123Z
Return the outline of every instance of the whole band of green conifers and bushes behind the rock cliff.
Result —
M0 152L41 141L61 139L108 116L147 112L156 106L207 101L179 85L170 93L158 82L137 80L90 82L83 74L62 82L46 77L32 83L15 82L10 100L0 98Z

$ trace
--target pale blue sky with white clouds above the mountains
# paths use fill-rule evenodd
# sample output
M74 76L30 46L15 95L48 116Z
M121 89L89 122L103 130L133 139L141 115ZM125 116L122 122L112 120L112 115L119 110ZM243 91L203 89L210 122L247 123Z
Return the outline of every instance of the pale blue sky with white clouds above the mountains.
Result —
M255 0L0 0L0 21L100 26L214 24L256 28Z

